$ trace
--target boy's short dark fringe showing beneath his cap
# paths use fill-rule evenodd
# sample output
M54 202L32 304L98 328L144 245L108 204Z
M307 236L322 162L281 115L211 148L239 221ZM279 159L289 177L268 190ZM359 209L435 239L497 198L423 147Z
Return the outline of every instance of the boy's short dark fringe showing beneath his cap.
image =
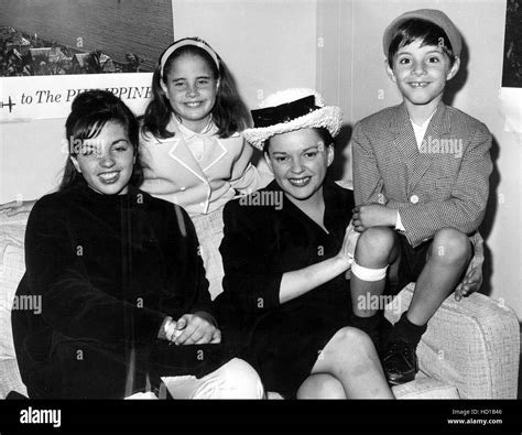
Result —
M388 47L388 63L390 67L393 65L393 57L395 57L396 52L416 40L422 42L421 46L439 46L443 53L448 56L449 65L454 65L456 56L446 32L431 21L412 19L396 28L395 33L391 37L390 46Z

